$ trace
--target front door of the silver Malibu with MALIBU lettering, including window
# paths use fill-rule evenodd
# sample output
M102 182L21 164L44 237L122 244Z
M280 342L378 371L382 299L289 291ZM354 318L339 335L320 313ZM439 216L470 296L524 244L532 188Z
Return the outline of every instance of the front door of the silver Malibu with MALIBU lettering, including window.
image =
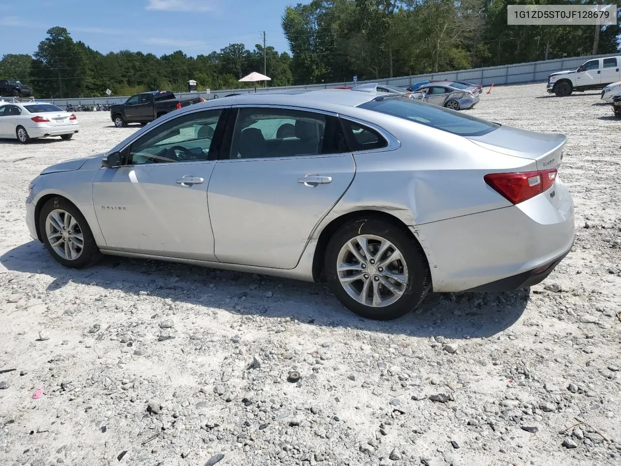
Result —
M93 203L108 249L215 260L207 185L225 112L165 121L120 151L121 167L97 171Z

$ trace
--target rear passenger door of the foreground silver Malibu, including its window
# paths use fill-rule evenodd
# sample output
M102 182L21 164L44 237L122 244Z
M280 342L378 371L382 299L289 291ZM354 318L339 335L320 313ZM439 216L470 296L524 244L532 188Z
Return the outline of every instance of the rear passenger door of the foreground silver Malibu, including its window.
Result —
M277 137L284 125L294 126L294 137ZM233 109L207 191L215 256L296 267L354 173L337 116L274 106Z

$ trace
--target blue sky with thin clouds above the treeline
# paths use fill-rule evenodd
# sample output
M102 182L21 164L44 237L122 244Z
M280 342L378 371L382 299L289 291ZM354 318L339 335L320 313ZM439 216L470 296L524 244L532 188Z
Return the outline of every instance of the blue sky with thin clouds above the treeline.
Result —
M0 58L30 53L53 26L102 53L132 50L158 57L219 51L229 43L252 50L266 43L289 52L280 21L291 0L0 0ZM25 7L17 7L22 4Z

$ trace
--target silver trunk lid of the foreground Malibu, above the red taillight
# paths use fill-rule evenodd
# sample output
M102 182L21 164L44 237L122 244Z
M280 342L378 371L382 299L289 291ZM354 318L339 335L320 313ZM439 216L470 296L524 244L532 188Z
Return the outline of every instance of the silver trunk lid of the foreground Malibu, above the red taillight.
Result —
M468 139L494 152L535 160L537 170L558 168L563 160L563 146L567 142L564 134L539 133L511 126L501 126Z

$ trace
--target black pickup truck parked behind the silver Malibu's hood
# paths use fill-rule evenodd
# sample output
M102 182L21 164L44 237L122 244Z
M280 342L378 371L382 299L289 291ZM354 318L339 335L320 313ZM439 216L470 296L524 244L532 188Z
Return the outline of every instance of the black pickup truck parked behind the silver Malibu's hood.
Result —
M147 124L163 114L204 102L205 99L196 96L190 99L177 99L171 91L143 92L131 96L127 101L110 106L110 117L117 128L127 126L128 123Z

